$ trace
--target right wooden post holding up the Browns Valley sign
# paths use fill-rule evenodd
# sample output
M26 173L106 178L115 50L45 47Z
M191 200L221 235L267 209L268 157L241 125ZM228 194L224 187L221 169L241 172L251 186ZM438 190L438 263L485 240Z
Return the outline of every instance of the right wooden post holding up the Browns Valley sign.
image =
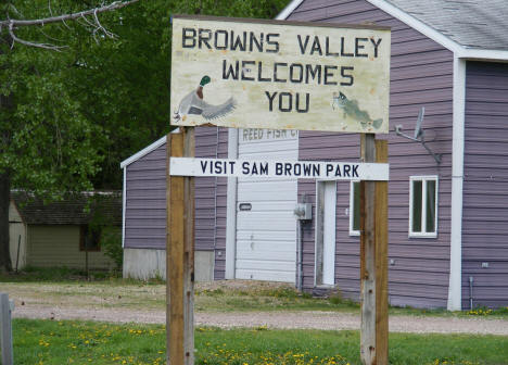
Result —
M361 135L364 162L388 162L388 141ZM360 355L388 365L388 181L360 182Z

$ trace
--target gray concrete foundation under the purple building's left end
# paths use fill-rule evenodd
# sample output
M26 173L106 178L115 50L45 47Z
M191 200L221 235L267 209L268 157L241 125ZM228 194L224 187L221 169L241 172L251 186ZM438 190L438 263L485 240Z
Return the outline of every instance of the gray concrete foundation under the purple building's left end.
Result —
M214 252L194 252L195 281L214 279ZM148 280L166 279L166 250L124 249L124 278Z

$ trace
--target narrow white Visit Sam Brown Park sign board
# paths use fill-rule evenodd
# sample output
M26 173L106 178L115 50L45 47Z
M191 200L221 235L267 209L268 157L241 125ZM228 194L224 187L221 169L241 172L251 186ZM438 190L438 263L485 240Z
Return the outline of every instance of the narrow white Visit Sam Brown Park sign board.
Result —
M169 175L386 181L388 163L170 158Z

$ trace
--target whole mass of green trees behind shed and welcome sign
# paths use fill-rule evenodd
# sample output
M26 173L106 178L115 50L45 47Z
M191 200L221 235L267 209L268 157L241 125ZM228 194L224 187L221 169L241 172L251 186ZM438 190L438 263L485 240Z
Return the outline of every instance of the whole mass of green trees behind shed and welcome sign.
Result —
M45 199L118 189L119 162L169 130L172 14L272 18L287 3L141 0L97 18L12 29L10 18L69 14L102 0L0 5L8 14L0 20L0 269L10 269L11 188Z

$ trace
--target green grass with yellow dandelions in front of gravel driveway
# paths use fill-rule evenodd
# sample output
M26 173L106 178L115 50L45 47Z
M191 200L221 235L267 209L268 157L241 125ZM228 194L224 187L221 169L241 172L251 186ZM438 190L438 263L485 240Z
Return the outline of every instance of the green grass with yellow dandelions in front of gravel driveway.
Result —
M15 319L18 365L165 364L165 329L153 325ZM360 364L358 331L198 327L195 364ZM508 364L508 337L390 335L390 364Z

